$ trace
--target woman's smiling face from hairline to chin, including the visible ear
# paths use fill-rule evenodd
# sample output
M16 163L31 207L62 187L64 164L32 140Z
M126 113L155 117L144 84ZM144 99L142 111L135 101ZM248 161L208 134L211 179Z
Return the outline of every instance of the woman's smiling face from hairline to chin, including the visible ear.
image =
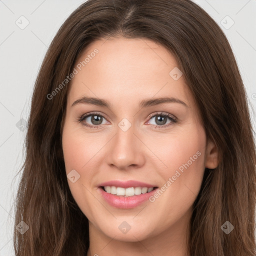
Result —
M100 39L75 69L62 149L90 230L122 241L183 230L214 146L174 56L147 39Z

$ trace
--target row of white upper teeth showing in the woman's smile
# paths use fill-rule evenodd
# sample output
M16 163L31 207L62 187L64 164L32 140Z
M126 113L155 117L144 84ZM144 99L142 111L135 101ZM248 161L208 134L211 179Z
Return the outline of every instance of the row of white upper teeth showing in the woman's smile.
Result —
M111 193L111 194L116 194L116 195L120 195L120 196L133 196L135 195L139 195L139 194L144 194L147 192L151 192L154 188L153 187L116 187L116 186L104 186L104 190L107 193Z

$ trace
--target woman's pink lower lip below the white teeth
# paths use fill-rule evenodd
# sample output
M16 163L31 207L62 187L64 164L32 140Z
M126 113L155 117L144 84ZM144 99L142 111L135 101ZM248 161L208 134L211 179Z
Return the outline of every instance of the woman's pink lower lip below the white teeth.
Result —
M155 189L148 193L139 194L139 195L132 195L132 196L119 196L111 193L107 193L104 189L101 187L98 188L100 194L102 197L113 207L115 208L123 208L123 209L129 209L129 208L135 208L138 205L142 204L148 198L155 193Z

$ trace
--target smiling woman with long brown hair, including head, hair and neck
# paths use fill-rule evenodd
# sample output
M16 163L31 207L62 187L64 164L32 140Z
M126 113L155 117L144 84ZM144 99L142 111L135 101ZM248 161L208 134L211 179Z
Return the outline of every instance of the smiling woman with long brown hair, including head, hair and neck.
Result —
M245 89L192 1L80 5L49 46L28 123L16 255L255 255Z

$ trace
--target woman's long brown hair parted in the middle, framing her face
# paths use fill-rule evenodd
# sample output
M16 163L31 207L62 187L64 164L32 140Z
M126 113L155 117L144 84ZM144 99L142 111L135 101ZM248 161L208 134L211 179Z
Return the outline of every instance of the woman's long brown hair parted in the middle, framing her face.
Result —
M206 136L219 150L220 163L205 169L193 204L190 255L254 256L256 156L248 101L224 33L190 0L88 0L62 24L33 90L15 201L15 255L87 252L88 219L70 193L61 147L68 83L54 97L47 95L72 72L88 44L117 36L150 39L174 54ZM23 234L15 228L21 220L29 227ZM229 234L221 229L226 221L234 227Z

